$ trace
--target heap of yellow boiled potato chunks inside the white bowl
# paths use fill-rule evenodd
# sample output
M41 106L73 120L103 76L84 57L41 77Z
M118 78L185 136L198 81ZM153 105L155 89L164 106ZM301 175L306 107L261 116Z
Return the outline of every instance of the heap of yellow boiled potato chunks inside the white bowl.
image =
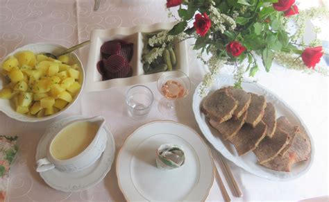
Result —
M81 90L78 65L69 56L58 60L32 51L21 51L1 65L10 83L0 90L0 99L10 99L16 112L44 117L63 110Z

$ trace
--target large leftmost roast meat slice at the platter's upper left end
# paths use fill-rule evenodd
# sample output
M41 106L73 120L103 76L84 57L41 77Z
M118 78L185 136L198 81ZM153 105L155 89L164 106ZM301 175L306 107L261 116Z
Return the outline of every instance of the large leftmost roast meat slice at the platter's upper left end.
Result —
M207 96L201 106L201 110L208 118L219 123L230 119L236 108L237 101L235 101L233 96L228 94L227 90L223 89L217 90Z

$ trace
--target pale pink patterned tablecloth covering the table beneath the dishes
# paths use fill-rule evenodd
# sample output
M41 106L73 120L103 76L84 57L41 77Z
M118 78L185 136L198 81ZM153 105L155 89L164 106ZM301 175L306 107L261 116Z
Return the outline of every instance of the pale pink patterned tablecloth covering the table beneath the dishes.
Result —
M142 1L139 5L124 2L101 0L101 8L94 12L92 0L0 0L0 60L24 44L53 42L70 47L88 40L94 28L135 26L173 20L167 18L163 0ZM87 64L88 49L87 46L76 51L83 65ZM301 178L278 183L248 174L229 163L244 192L242 198L236 198L230 191L228 180L221 171L222 165L214 151L214 160L233 201L297 201L328 195L328 78L274 66L270 74L263 70L257 74L258 83L278 94L301 116L314 139L314 165ZM193 92L196 85L202 81L206 69L196 59L196 53L191 48L189 68ZM223 72L230 72L230 69L223 69ZM155 94L155 103L149 117L142 120L130 118L126 106L122 104L127 87L116 87L104 92L83 92L65 115L42 123L23 123L0 113L1 135L19 136L19 153L10 171L6 201L124 201L117 184L115 163L106 178L90 190L64 193L48 187L33 169L35 149L45 128L53 121L69 115L106 117L106 125L115 136L117 151L132 131L153 120L171 119L199 131L192 114L192 93L184 99L184 106L176 116L165 117L157 108L161 95L156 90L155 83L146 85ZM222 200L215 180L207 201Z

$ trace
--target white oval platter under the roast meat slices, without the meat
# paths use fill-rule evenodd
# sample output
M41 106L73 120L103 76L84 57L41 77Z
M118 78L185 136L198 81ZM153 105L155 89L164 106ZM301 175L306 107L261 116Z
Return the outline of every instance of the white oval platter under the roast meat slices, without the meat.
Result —
M234 85L235 80L233 76L228 75L219 75L215 79L212 87L210 88L210 92L217 90L221 87L225 87L228 85ZM281 172L281 171L273 171L271 169L267 169L262 165L258 164L258 160L253 152L248 152L245 155L239 156L237 155L237 151L235 150L233 144L230 144L228 141L222 141L219 137L219 133L216 129L212 128L208 123L203 112L200 110L201 102L203 98L199 96L199 89L201 87L201 83L196 87L193 96L193 112L196 118L196 122L199 124L199 128L201 129L205 138L214 146L217 151L219 151L225 158L235 163L235 165L242 167L246 171L254 174L255 176L260 176L262 178L267 178L269 180L292 180L293 178L298 178L299 176L305 174L311 167L313 159L314 159L314 144L312 141L312 137L310 132L307 130L307 127L303 123L300 117L290 108L285 101L282 101L276 94L270 92L262 85L258 83L248 82L242 83L242 87L246 92L253 92L255 94L261 94L266 97L267 101L273 103L273 106L276 108L276 116L277 118L284 115L289 119L289 121L301 127L301 131L307 134L311 142L311 155L310 159L304 162L298 162L294 165L291 172Z

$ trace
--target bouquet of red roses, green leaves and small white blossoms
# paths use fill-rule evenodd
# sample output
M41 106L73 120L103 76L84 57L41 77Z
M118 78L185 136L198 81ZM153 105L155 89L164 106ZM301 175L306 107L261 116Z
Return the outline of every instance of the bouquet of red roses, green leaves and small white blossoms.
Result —
M170 46L173 36L196 39L194 49L211 56L208 60L198 56L210 70L201 94L227 63L234 64L235 87L241 87L242 75L254 76L260 68L258 57L266 71L274 59L288 68L321 71L317 67L323 56L321 42L316 39L305 44L303 33L307 19L328 14L325 7L300 11L295 0L167 0L166 6L178 7L178 23L150 42L162 40L164 46ZM175 17L170 10L169 16ZM289 31L292 22L294 33ZM319 33L319 28L314 31Z

